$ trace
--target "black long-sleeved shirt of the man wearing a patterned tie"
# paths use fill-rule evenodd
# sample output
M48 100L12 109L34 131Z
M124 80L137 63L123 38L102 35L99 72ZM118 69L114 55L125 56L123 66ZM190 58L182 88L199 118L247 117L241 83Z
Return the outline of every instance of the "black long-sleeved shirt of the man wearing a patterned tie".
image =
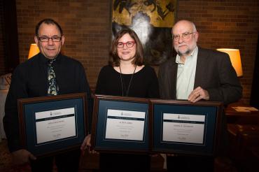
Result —
M57 85L59 86L59 94L87 93L87 111L91 115L91 92L82 64L76 59L59 54L53 64L53 68ZM48 59L41 53L38 53L38 55L18 65L13 73L6 98L5 116L3 117L3 127L6 131L10 152L21 149L17 100L47 96L47 69Z

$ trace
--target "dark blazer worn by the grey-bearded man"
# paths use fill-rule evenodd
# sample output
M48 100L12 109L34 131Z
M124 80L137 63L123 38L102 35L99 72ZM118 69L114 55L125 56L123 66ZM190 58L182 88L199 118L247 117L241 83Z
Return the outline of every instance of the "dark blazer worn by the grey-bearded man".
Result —
M176 99L177 67L176 57L160 65L158 81L162 99ZM196 87L209 92L210 101L223 101L224 104L238 101L242 87L230 57L225 52L198 48L195 73Z

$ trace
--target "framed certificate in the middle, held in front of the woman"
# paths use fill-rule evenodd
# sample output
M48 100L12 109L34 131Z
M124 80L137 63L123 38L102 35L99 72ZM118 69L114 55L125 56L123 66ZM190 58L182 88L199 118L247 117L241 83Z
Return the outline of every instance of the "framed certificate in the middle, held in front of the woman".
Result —
M103 152L148 152L148 99L96 95L91 144Z

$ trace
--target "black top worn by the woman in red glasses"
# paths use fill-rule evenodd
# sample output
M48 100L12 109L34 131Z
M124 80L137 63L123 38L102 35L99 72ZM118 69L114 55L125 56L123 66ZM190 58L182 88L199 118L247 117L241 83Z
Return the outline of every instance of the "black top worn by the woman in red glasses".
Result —
M133 77L132 74L121 74L121 76L124 89L122 89L120 73L113 69L112 66L104 66L99 73L95 93L112 96L125 96L130 79L132 78L128 96L159 98L158 78L154 69L150 66L144 66L143 69L134 73Z

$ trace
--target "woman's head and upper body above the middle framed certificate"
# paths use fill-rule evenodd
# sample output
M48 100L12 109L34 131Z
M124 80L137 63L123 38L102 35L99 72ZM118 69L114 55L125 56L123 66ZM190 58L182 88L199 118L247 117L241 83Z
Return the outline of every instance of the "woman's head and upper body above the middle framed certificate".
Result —
M144 65L144 50L131 29L118 32L111 45L109 65L99 73L96 94L158 98L158 79Z

